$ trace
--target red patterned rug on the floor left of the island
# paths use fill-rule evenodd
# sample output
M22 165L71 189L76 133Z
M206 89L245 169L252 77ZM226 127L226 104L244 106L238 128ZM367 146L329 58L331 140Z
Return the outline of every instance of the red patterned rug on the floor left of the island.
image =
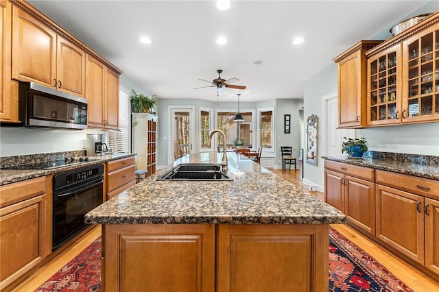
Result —
M101 247L99 236L78 256L51 276L35 292L95 292L101 290Z

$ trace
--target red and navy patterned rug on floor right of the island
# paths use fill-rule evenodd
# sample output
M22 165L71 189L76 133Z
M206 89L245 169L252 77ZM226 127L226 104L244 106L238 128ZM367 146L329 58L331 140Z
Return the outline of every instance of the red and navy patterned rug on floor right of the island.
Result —
M329 228L329 291L413 292L372 256L332 228Z

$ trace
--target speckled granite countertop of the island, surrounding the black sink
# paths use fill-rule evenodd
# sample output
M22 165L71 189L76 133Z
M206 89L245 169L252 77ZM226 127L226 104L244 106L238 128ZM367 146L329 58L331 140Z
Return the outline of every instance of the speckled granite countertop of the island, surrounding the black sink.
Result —
M339 210L252 160L228 153L233 181L157 181L156 174L91 210L86 223L328 224L345 223ZM220 164L222 154L191 154L179 163Z

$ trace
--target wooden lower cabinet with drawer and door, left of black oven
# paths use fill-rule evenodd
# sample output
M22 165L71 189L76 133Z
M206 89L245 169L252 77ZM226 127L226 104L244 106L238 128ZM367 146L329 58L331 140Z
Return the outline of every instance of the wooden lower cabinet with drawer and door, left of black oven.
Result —
M0 186L0 291L45 258L45 178Z

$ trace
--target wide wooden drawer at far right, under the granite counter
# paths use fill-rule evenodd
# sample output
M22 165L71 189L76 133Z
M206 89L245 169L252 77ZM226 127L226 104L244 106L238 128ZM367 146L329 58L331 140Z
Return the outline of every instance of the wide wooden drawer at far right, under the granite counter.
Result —
M433 199L439 199L439 181L428 178L418 178L413 175L382 171L377 169L377 184L393 186L403 191L425 195Z

